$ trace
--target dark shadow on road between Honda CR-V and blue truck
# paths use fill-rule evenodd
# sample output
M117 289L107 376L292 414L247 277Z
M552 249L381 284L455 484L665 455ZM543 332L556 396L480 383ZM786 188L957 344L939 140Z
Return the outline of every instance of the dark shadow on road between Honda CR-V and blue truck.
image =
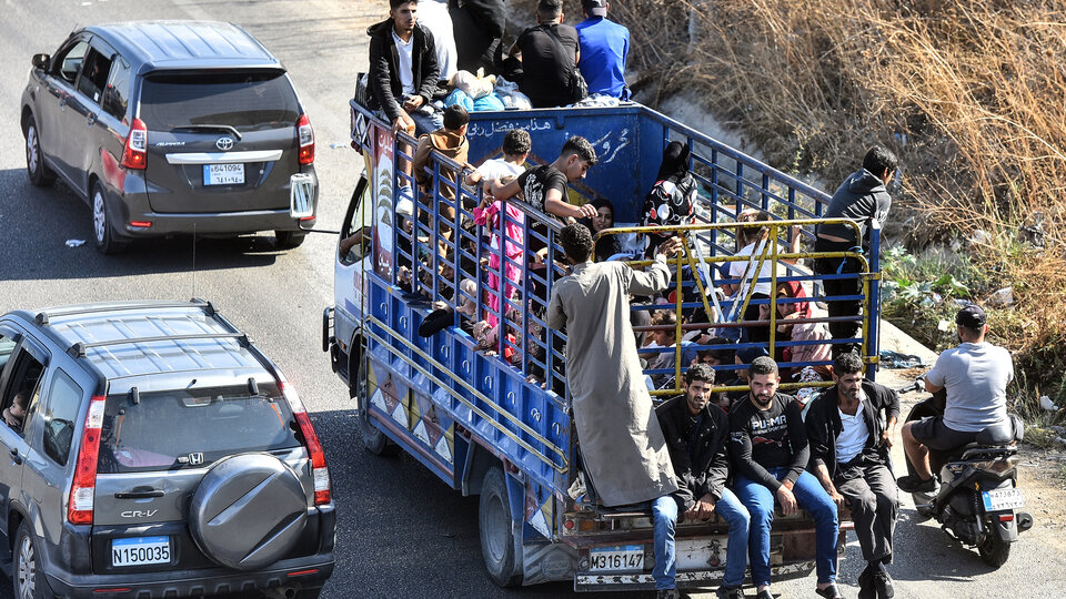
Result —
M477 500L463 497L413 457L363 448L354 410L315 412L336 502L336 569L323 597L557 598L573 582L501 589L485 573ZM455 588L454 581L465 581ZM628 595L641 599L641 595Z

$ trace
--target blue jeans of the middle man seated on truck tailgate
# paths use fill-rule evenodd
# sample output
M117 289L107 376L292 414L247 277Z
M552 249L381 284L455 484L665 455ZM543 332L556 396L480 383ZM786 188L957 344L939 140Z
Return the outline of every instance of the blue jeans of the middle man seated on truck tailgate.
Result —
M770 468L777 480L788 473L787 468ZM734 484L737 497L752 515L751 548L752 583L770 585L770 526L774 521L774 493L760 483L736 475ZM836 581L836 539L838 522L836 504L811 473L804 471L792 488L800 507L814 516L816 530L815 565L818 583Z

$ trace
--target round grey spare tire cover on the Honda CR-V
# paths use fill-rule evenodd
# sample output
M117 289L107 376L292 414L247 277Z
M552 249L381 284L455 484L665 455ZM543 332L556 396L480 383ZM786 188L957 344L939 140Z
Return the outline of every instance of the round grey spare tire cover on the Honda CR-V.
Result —
M292 549L308 525L308 498L296 474L268 454L217 463L189 506L200 549L222 566L264 568Z

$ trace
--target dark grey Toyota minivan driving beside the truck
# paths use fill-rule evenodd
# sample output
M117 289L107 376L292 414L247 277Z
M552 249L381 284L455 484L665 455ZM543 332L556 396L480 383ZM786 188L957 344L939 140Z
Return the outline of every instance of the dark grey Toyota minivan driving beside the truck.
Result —
M101 252L138 237L259 231L294 247L314 224L311 121L284 67L243 29L93 26L32 63L27 172L88 201Z

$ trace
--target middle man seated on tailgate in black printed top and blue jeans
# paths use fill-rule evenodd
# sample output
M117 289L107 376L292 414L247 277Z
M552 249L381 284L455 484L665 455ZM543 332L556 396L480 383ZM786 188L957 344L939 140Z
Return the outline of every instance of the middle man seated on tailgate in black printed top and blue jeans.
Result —
M748 396L730 412L730 455L735 466L736 496L752 516L748 559L756 599L773 599L770 592L770 526L774 498L785 516L797 506L814 516L815 592L826 599L839 597L836 589L836 540L839 532L836 505L811 473L806 471L811 449L800 404L777 393L781 376L768 356L755 358L747 368L752 385Z

